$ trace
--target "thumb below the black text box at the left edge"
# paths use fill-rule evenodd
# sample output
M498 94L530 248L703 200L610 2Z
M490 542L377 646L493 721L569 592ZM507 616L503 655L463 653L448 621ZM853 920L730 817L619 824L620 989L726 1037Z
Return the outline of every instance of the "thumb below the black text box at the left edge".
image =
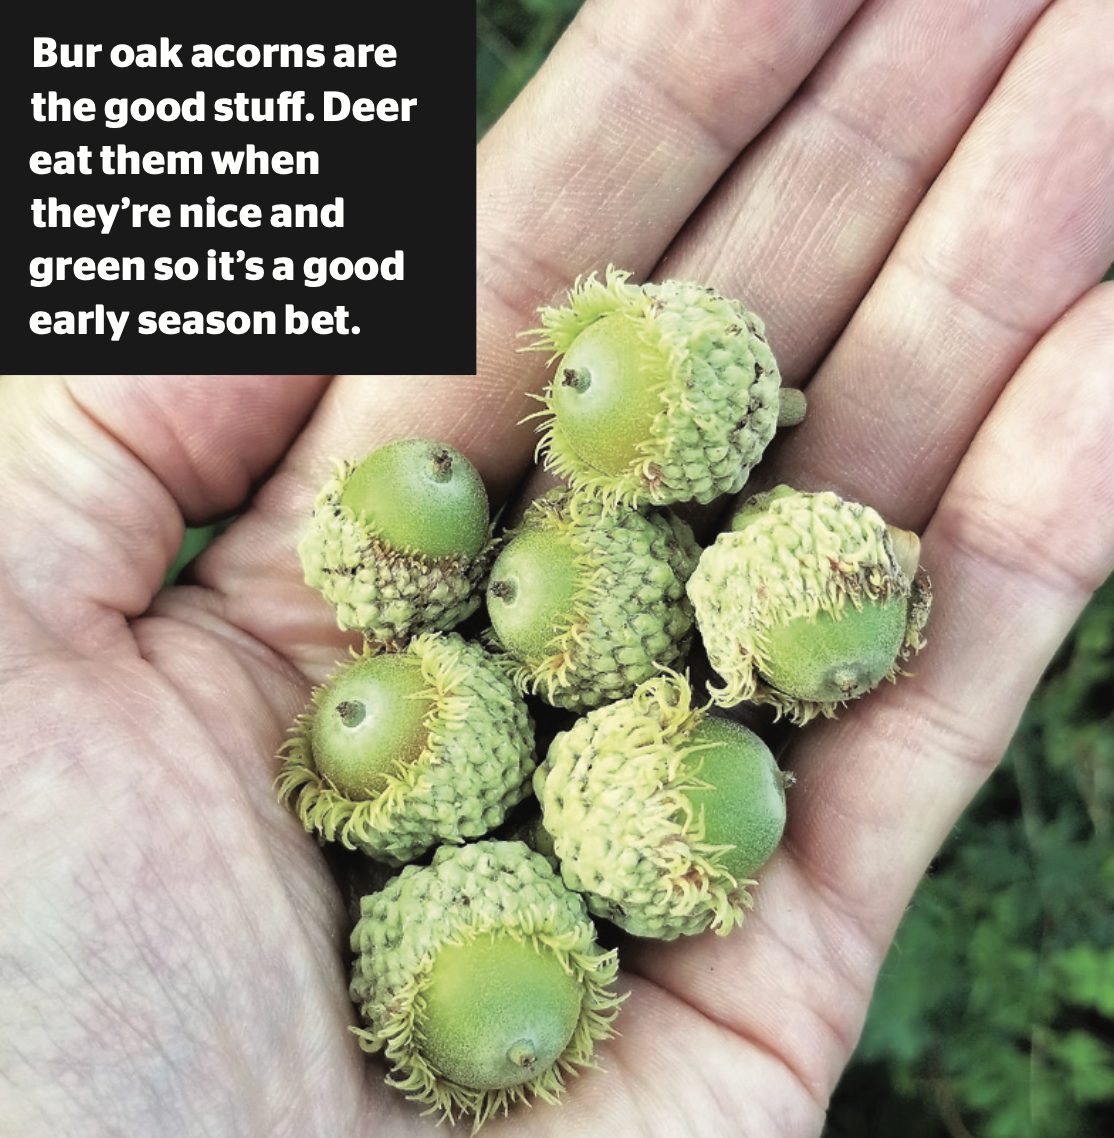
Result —
M0 386L7 588L74 646L143 611L182 516L237 509L323 377L8 377ZM44 587L49 583L49 588ZM99 610L101 617L94 615Z

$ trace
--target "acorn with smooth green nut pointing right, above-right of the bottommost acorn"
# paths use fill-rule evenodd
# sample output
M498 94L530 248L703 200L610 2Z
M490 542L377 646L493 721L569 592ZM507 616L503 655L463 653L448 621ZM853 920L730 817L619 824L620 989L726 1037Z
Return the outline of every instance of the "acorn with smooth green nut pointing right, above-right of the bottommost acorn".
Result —
M534 775L564 883L636 937L725 934L785 827L786 776L680 676L589 712Z

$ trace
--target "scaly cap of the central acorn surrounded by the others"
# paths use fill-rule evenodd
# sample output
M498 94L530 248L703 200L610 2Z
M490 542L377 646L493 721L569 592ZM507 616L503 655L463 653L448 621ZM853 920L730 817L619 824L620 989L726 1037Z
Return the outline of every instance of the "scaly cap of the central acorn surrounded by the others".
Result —
M515 671L522 691L583 711L622 699L684 662L693 625L685 583L700 558L684 521L668 510L606 509L558 488L530 505L519 529L504 537L504 549L527 530L570 543L580 585L545 654L521 661Z

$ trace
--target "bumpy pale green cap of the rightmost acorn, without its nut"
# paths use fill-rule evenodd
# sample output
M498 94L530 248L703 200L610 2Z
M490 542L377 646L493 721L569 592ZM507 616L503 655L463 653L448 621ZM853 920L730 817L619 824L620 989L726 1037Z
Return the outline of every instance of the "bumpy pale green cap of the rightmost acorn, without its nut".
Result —
M910 576L894 554L881 516L831 490L816 494L777 486L749 500L731 530L704 550L688 582L696 624L723 685L712 699L732 707L743 700L773 706L778 716L803 724L832 717L842 700L807 700L771 687L770 629L797 618L826 613L841 619L849 607L905 599L903 641L883 678L893 681L900 665L924 646L931 585L923 569Z

